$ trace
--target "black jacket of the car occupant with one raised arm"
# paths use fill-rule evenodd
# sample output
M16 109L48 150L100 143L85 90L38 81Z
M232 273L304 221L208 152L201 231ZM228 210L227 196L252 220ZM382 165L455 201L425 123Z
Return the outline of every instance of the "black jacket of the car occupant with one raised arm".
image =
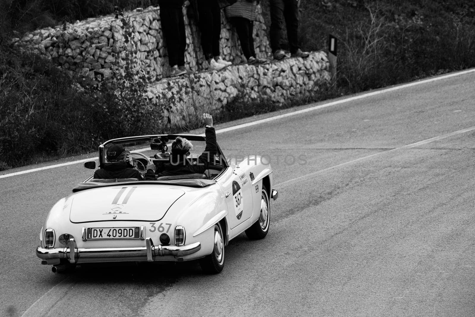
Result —
M213 127L206 128L206 148L199 155L198 160L192 162L186 155L170 155L170 163L164 163L157 166L155 173L157 177L174 176L183 174L204 173L208 169L209 163L214 163L214 155L218 153L218 144L216 144L216 131ZM195 163L195 164L193 164ZM146 180L155 180L155 173L148 170L145 174Z

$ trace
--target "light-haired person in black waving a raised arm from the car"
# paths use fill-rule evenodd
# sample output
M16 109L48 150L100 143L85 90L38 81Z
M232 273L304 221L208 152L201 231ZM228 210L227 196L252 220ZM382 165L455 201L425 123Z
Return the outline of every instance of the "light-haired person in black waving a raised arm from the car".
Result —
M197 161L188 158L193 144L184 137L178 136L171 144L170 163L164 163L156 171L147 166L146 180L155 180L161 176L175 176L184 174L202 174L208 169L209 163L214 162L214 155L218 153L218 144L216 144L216 131L213 128L213 117L209 114L203 114L205 124L206 148L199 155ZM157 174L157 175L155 175Z

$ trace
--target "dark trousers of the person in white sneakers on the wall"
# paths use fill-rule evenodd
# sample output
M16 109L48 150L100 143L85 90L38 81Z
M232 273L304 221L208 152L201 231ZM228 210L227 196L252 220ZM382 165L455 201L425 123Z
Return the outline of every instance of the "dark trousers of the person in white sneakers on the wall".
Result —
M201 47L206 59L219 56L221 36L221 10L217 0L198 0Z

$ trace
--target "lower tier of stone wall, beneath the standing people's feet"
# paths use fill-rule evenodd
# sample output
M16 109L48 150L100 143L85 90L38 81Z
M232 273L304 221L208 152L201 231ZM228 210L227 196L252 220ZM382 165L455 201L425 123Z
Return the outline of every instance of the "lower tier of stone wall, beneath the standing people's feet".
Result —
M188 116L215 113L236 98L243 103L284 104L289 98L314 92L329 81L326 54L312 52L305 59L232 65L220 71L162 79L149 86L147 96L154 104L173 103L165 118L171 124L180 124Z

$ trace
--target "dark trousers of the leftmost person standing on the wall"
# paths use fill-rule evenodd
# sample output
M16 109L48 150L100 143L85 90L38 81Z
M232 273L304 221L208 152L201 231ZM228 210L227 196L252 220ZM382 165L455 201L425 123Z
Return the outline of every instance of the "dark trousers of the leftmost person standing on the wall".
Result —
M181 4L183 0L161 0L161 30L168 49L170 66L185 65L186 35Z

